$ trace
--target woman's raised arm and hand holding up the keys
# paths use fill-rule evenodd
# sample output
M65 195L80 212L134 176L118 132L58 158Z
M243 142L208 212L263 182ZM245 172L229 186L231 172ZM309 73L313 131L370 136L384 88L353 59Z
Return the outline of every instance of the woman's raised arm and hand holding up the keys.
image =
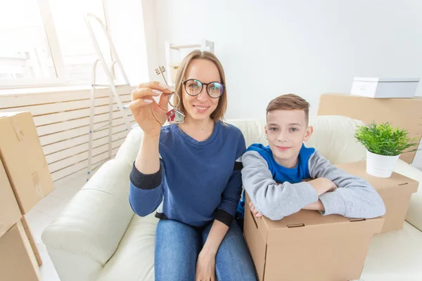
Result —
M173 90L173 89L171 89ZM141 147L130 174L129 203L136 214L146 216L151 214L162 201L162 184L164 169L160 165L158 145L160 131L165 123L165 110L170 93L167 86L158 82L148 82L139 85L132 92L132 103L129 105L134 119L143 131ZM152 96L160 96L155 102Z

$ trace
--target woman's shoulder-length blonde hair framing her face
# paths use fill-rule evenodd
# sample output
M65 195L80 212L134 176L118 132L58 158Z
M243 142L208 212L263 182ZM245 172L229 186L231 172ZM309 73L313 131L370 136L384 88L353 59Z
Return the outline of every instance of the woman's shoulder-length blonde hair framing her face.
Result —
M207 51L200 51L200 50L191 51L191 53L186 55L186 57L181 61L179 65L179 69L177 70L176 81L174 85L176 88L176 93L181 98L181 102L179 105L180 110L184 114L186 114L186 110L183 105L184 86L182 83L185 78L186 70L188 69L188 66L190 65L191 61L197 60L197 59L210 60L210 62L214 63L215 66L217 66L217 69L219 72L220 82L224 86L226 85L226 77L224 76L224 70L223 70L222 64L219 62L218 58L213 53L210 53ZM203 91L206 91L206 89L203 89ZM176 96L174 97L174 103L175 104L178 103ZM226 109L227 109L227 93L226 93L226 88L224 87L222 96L219 97L217 108L215 108L214 112L211 113L210 117L214 121L218 121L218 120L223 121L224 113L226 113Z

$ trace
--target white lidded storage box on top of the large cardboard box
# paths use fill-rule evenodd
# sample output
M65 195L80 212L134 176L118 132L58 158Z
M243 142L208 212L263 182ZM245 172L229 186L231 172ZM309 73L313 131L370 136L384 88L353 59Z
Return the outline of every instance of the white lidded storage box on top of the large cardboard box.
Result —
M352 95L368 98L413 98L419 78L354 77Z

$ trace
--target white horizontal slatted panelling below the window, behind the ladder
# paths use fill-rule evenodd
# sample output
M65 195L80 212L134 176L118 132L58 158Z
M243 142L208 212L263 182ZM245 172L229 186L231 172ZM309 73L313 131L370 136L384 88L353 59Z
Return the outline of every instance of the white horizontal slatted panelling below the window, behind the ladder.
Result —
M123 88L124 89L124 88ZM131 100L130 93L122 93L123 104ZM63 90L34 91L19 93L18 90L0 93L0 112L29 111L34 118L39 141L49 164L53 181L87 169L89 138L89 89L72 87ZM108 124L110 90L96 89L94 131ZM132 124L135 121L128 111ZM124 120L113 104L113 143L112 157L122 145L128 131ZM93 167L103 164L108 158L108 128L94 133Z

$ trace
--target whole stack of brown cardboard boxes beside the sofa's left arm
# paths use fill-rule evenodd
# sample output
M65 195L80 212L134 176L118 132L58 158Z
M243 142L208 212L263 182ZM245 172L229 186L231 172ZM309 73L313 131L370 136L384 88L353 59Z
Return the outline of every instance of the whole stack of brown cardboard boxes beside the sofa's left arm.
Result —
M0 112L0 132L0 279L37 280L42 261L25 214L53 181L30 112Z

